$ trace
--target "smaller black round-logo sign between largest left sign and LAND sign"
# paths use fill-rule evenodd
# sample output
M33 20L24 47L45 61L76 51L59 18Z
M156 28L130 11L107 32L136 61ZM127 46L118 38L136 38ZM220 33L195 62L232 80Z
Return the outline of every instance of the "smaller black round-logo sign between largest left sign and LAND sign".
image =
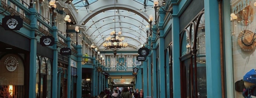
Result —
M42 46L52 46L54 44L54 37L52 37L52 36L42 36L40 38L40 44Z

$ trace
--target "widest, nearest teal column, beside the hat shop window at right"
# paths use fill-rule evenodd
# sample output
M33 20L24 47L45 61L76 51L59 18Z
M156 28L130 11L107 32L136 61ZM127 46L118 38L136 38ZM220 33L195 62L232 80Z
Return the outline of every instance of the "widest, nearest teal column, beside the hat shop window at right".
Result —
M218 0L204 0L207 98L221 98Z

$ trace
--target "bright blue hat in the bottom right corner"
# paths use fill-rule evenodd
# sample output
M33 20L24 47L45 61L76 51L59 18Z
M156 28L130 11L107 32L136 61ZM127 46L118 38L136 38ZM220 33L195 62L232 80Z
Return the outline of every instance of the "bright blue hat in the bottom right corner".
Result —
M246 82L249 82L249 83L256 84L256 71L255 71L255 69L252 69L251 71L247 72L244 75L243 80L246 81Z

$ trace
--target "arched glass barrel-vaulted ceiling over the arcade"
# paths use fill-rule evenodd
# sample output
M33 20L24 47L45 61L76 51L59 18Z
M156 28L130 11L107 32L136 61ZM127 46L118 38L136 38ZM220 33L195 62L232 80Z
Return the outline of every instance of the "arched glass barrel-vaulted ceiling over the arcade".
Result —
M77 25L84 27L86 37L100 50L111 31L121 31L123 42L128 46L122 50L137 50L146 42L145 26L149 15L155 14L152 0L73 0L77 8Z

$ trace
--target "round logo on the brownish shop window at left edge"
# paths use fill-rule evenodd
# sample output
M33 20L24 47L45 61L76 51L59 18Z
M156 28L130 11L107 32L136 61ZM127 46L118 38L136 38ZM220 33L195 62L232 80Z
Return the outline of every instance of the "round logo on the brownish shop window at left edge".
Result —
M9 56L6 57L6 59L4 60L4 65L6 66L8 71L14 71L19 65L19 61L16 57Z

